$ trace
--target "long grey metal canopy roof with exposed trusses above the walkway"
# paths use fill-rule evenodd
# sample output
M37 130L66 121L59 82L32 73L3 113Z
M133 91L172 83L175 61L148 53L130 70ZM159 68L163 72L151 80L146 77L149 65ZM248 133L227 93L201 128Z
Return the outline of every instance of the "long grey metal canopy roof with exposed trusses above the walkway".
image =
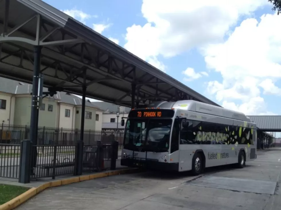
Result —
M140 104L193 99L219 106L41 0L0 0L0 34L5 78L30 83L40 45L45 87L82 95L86 85L86 97L130 106L136 84Z

